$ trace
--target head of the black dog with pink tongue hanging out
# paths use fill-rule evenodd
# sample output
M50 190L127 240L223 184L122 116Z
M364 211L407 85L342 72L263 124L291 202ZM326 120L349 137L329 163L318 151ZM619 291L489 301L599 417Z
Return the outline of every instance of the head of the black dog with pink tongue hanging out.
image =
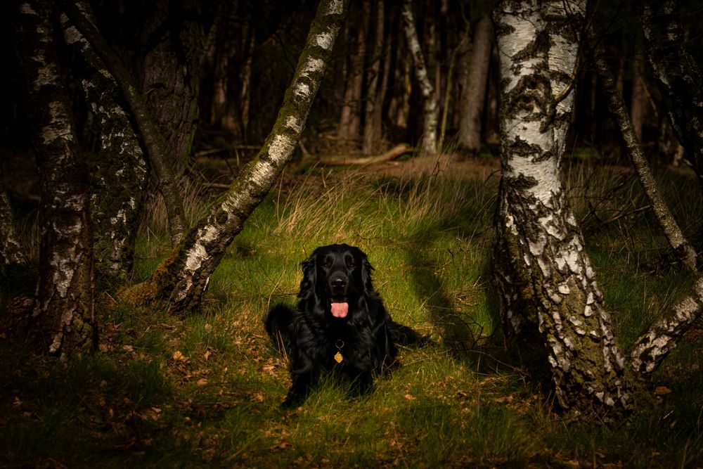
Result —
M366 254L346 244L322 246L302 263L303 280L298 297L313 295L337 319L345 319L362 296L373 293L371 271Z

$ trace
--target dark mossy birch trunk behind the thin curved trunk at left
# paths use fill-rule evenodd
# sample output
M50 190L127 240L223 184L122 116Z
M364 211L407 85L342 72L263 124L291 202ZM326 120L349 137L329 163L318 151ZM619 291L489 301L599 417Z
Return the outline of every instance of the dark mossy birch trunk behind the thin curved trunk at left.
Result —
M94 24L90 6L82 1L78 4L86 19ZM134 243L148 172L146 158L124 112L115 79L65 15L61 22L66 43L89 64L82 68L80 82L88 106L100 123L100 149L91 169L96 270L122 283L134 264Z

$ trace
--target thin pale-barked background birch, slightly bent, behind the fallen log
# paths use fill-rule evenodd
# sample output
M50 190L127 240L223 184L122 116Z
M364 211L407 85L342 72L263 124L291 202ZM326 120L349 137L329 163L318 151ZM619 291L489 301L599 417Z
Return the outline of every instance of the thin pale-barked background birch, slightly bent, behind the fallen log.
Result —
M401 10L405 26L408 49L410 49L413 63L415 63L415 77L420 85L420 94L423 96L423 151L425 153L437 152L437 99L434 96L434 86L427 76L425 58L420 49L418 32L415 30L413 19L413 6L411 0L404 0Z

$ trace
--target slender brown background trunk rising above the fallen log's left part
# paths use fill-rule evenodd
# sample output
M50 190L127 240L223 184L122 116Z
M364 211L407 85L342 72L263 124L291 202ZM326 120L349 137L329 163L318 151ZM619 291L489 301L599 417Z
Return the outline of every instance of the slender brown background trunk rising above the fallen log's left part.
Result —
M383 23L385 21L384 3L385 0L376 0L378 8L376 8L376 37L373 45L373 56L371 57L371 65L368 71L367 90L366 90L366 107L363 120L363 144L361 151L364 155L373 155L380 143L380 119L376 114L380 114L382 101L378 100L380 94L379 75L381 72L381 58L383 55ZM378 127L377 127L378 126Z

